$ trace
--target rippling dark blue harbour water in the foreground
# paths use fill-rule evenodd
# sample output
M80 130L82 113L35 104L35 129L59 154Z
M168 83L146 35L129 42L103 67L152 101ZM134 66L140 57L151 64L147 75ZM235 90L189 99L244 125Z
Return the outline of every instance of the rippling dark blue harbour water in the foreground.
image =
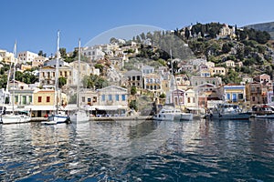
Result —
M0 125L0 181L274 181L274 121Z

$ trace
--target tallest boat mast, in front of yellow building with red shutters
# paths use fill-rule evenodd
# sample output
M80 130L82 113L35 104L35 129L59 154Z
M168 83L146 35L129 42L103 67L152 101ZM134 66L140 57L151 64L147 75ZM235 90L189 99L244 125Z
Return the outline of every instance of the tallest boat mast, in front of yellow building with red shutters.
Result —
M58 44L57 44L57 59L56 59L56 69L55 69L55 102L56 102L56 114L58 114L58 73L59 73L59 40L60 31L58 31Z

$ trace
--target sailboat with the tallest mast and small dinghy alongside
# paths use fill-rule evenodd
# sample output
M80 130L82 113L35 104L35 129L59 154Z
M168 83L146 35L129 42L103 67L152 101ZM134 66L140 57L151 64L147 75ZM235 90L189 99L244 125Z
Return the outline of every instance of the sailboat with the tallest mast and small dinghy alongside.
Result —
M46 125L56 125L59 123L67 123L69 121L69 116L66 111L60 110L58 106L59 98L59 88L58 88L58 66L59 66L59 31L58 31L58 48L57 48L57 59L56 59L56 74L55 74L55 113L52 113L51 116L47 117L47 121L42 122Z

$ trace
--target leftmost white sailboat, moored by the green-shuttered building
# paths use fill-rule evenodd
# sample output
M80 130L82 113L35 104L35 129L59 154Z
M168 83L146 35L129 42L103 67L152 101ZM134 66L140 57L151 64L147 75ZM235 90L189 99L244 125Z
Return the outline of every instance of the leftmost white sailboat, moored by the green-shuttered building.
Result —
M2 112L1 112L1 116L0 116L0 123L3 124L16 124L16 123L26 123L28 121L30 121L31 117L30 116L26 116L23 114L19 114L15 112L15 89L16 89L16 44L15 44L15 48L14 48L14 56L15 56L15 60L14 60L14 66L12 66L13 64L10 64L10 69L8 72L8 76L7 76L7 84L6 84L6 88L5 88L5 96L4 96L4 103L3 103L3 107L2 107ZM6 114L5 113L5 97L8 94L8 84L9 84L9 79L11 77L11 73L13 72L13 93L9 95L9 98L12 101L12 112L10 114Z

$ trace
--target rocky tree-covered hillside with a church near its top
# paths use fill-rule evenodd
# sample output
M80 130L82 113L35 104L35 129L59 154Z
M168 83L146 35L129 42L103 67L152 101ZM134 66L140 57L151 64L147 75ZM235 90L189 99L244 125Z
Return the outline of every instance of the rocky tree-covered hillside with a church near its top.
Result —
M237 28L237 25L219 23L190 25L171 32L155 32L147 35L137 35L133 41L142 44L137 57L142 57L170 66L170 57L180 58L184 65L195 58L206 58L216 66L224 66L227 60L233 60L237 65L229 69L223 76L225 83L240 83L243 76L273 75L273 42L266 31ZM153 47L160 48L153 48ZM172 55L170 55L172 50ZM133 63L137 63L134 59ZM131 59L129 61L131 63ZM133 65L133 64L132 64ZM180 64L173 65L174 73L178 73ZM182 65L182 64L181 64ZM151 65L153 66L153 65ZM185 72L185 71L184 71ZM186 73L194 75L195 73Z

